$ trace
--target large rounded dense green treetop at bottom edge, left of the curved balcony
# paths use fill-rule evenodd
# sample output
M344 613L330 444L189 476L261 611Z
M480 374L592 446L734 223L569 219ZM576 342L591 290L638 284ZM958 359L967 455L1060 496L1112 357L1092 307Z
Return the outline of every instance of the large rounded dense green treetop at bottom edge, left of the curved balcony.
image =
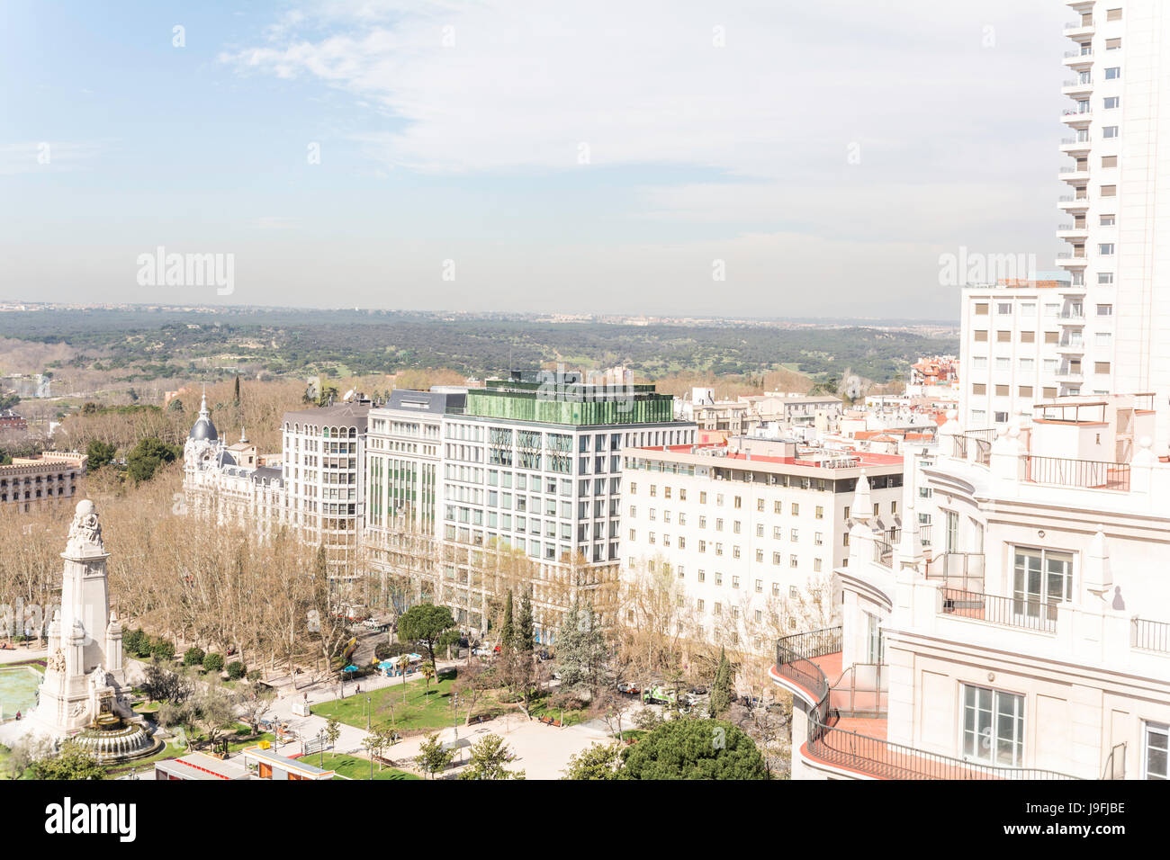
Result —
M670 720L622 755L626 779L768 779L756 744L725 720Z

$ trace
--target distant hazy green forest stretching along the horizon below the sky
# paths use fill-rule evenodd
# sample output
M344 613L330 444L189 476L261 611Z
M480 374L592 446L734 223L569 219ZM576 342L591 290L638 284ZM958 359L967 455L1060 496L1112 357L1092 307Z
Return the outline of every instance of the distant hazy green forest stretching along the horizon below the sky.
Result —
M274 377L365 376L450 367L474 377L564 362L625 364L647 378L679 372L764 373L813 379L852 373L904 378L918 356L955 353L956 338L865 326L764 324L622 325L502 316L338 310L53 310L0 314L0 337L68 344L58 366L167 379L223 366ZM121 376L121 374L119 374Z

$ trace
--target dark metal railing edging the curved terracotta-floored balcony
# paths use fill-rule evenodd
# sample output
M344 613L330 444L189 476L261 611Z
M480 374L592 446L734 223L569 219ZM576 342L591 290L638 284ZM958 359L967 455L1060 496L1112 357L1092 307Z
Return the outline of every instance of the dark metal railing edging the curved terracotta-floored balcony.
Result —
M808 713L808 755L818 761L879 779L1075 779L1066 773L1037 768L1005 768L966 762L937 752L890 743L855 731L835 728L840 713L831 707L828 680L812 660L841 649L841 628L785 637L776 644L776 672L817 696ZM872 665L860 667L867 670ZM876 667L873 667L876 668ZM881 694L882 681L874 673L872 687ZM849 704L858 700L851 696Z

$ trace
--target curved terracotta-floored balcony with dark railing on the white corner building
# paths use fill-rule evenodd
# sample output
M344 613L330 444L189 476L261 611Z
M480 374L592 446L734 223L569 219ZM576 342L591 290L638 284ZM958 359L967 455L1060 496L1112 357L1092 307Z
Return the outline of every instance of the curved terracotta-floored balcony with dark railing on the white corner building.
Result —
M813 769L859 779L1075 779L1038 768L1003 768L927 752L886 739L886 693L880 666L841 666L841 628L785 637L776 644L775 682L807 708L807 739L799 755ZM868 675L868 677L862 677ZM846 676L849 683L845 683ZM858 695L859 686L862 688ZM867 689L872 688L872 689ZM848 694L848 699L844 696ZM834 695L837 694L837 695ZM841 706L848 702L848 710ZM846 716L848 714L848 716Z

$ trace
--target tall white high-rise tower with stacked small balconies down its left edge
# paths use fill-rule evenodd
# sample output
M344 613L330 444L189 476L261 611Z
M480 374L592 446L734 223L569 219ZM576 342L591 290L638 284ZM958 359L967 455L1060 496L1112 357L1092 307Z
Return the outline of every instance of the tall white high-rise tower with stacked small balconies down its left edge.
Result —
M1068 242L1058 264L1083 288L1081 318L1061 319L1061 340L1081 333L1061 357L1081 383L1061 394L1155 392L1157 453L1168 450L1170 411L1170 135L1158 135L1170 106L1170 8L1164 0L1071 2L1079 20L1062 92L1071 131L1060 150L1068 193L1060 199ZM1072 297L1071 297L1072 298ZM1079 360L1078 360L1079 359ZM1073 362L1076 362L1074 365ZM966 418L966 415L964 415ZM989 425L990 426L990 425Z

